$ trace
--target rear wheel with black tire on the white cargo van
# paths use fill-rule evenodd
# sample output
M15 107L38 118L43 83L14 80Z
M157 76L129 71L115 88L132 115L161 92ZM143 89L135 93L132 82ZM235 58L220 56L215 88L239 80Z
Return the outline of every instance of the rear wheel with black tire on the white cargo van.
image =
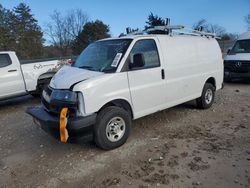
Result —
M212 98L208 100L208 92L209 96L212 94ZM215 87L210 84L210 83L205 83L203 90L202 90L202 95L200 98L196 99L196 103L198 108L200 109L208 109L212 106L215 98Z

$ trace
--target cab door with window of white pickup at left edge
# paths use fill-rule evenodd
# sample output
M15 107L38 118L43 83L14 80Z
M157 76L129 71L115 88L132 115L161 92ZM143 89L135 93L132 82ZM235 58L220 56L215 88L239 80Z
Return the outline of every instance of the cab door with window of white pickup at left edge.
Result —
M14 61L8 53L0 53L0 99L25 92L20 65Z

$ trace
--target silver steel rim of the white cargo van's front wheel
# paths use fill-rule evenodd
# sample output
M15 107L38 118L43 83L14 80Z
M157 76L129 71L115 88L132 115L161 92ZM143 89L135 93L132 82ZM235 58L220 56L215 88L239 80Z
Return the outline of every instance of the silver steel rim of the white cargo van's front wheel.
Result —
M106 136L109 141L117 142L123 137L125 130L126 124L124 119L121 117L114 117L106 126Z

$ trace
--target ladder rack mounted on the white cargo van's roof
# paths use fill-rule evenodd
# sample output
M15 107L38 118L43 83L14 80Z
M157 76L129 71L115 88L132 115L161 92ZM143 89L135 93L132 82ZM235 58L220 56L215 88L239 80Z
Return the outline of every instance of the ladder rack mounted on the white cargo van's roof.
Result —
M185 29L182 25L164 25L164 26L154 26L145 30L131 30L127 28L127 35L142 35L153 31L163 31L166 35L181 34L181 35L193 35L193 36L205 36L212 38L219 38L215 33L208 33L204 31L198 31L193 29ZM174 31L174 33L173 33Z

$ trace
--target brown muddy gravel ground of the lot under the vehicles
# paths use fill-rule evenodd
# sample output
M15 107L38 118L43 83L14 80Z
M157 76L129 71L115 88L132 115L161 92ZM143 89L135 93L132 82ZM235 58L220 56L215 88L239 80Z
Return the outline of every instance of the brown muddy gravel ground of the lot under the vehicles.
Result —
M189 102L133 123L113 151L40 130L30 96L0 103L1 187L250 187L250 82L227 84L209 110Z

